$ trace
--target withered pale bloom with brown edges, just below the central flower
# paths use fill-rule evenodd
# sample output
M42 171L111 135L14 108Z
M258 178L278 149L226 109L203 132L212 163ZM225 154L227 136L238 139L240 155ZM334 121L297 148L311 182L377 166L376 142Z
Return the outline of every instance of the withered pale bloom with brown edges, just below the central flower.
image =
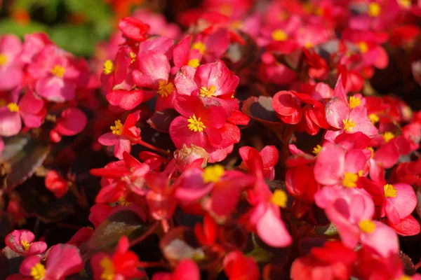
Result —
M204 168L208 164L209 155L204 148L189 144L189 147L185 144L182 148L174 152L174 158L177 161L177 165L180 170L184 170L187 167L201 167Z

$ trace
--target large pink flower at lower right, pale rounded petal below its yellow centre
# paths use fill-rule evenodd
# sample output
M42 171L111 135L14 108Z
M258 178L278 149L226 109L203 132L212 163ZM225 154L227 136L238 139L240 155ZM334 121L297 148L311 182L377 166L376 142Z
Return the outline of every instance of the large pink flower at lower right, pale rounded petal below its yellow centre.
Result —
M325 187L316 194L316 204L338 228L342 244L355 248L359 241L383 257L399 250L398 237L384 223L371 221L374 204L359 188Z

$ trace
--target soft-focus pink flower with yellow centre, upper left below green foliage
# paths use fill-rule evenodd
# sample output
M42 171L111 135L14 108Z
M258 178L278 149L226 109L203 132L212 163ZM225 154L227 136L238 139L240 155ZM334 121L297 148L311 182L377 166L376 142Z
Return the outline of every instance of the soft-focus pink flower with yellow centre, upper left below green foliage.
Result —
M74 99L80 71L69 54L55 45L48 45L29 64L28 73L36 80L35 91L53 102Z

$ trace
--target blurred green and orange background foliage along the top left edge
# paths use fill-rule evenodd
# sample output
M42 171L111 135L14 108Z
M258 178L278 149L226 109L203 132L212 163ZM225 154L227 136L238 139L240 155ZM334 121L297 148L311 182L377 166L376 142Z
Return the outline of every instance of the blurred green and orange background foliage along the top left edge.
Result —
M180 11L199 6L201 1L0 0L0 3L0 34L24 36L44 31L74 55L92 57L98 44L107 41L115 31L120 18L149 10L163 13L171 22Z

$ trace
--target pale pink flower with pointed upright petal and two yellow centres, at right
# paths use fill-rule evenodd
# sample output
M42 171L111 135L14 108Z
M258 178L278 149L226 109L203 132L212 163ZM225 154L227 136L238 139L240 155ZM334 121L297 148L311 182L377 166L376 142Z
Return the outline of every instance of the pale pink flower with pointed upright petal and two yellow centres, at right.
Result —
M342 78L335 86L335 97L326 104L326 120L336 131L326 132L325 139L333 140L342 133L363 132L368 137L374 137L377 129L367 116L367 110L361 104L361 97L350 97L347 100Z

